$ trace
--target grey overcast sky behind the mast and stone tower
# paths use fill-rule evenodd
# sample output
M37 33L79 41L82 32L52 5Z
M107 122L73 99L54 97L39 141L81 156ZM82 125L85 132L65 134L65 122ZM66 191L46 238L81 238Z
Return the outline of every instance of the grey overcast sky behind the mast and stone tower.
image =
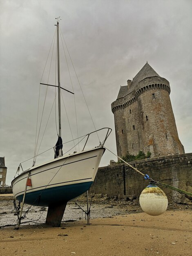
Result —
M7 184L17 166L33 157L39 83L56 27L64 33L96 128L113 132L106 146L116 153L111 103L121 85L138 73L146 61L170 82L172 107L185 153L192 152L192 1L191 0L6 0L0 3L0 157L5 157ZM61 43L60 43L61 45ZM62 55L62 51L61 51ZM65 66L61 85L71 90ZM74 75L71 76L75 77ZM77 81L79 135L93 131ZM42 82L47 83L46 78ZM54 82L52 82L54 83ZM41 92L45 92L42 88ZM71 129L76 137L74 97L63 93ZM43 95L43 94L42 94ZM42 107L43 98L40 101ZM54 102L49 88L45 127ZM62 103L63 104L63 103ZM63 141L67 132L62 105ZM42 141L42 152L56 144L53 110ZM98 142L97 142L98 144ZM94 145L95 146L95 145ZM65 150L64 150L65 151ZM47 153L48 159L53 151ZM47 159L47 157L42 158ZM106 152L101 166L116 160ZM32 160L26 168L31 167Z

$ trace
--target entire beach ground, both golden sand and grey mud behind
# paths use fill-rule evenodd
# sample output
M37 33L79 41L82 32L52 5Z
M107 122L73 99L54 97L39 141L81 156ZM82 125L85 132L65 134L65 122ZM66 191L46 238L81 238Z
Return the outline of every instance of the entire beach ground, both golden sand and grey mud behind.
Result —
M9 198L9 197L8 197ZM10 197L0 198L0 226L16 224ZM85 199L77 199L86 210ZM24 206L27 210L27 205ZM192 205L169 204L160 216L141 212L134 202L95 196L91 225L85 213L69 202L61 227L45 226L47 209L31 207L23 221L30 225L0 229L0 255L192 255Z

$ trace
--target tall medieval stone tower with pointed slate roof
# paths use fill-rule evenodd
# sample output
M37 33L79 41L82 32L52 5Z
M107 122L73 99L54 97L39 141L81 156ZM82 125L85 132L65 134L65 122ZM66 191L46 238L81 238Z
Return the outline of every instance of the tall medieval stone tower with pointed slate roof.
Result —
M117 154L151 157L184 153L170 101L170 84L146 63L133 81L121 86L114 113Z

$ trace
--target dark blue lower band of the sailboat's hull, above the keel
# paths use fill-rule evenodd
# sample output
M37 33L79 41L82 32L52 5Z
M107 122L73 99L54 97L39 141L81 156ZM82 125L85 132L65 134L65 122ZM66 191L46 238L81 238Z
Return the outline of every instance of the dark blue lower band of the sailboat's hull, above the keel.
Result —
M29 192L25 195L25 204L47 207L50 204L68 202L87 191L92 183L93 182L82 182ZM23 194L16 198L22 202Z

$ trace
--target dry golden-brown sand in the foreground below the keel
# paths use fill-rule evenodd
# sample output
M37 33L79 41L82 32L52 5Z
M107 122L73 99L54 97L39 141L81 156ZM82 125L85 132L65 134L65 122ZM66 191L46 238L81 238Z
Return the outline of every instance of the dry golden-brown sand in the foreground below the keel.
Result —
M0 229L1 255L174 255L192 253L192 211L161 216L132 213L62 222L61 227L24 225Z

